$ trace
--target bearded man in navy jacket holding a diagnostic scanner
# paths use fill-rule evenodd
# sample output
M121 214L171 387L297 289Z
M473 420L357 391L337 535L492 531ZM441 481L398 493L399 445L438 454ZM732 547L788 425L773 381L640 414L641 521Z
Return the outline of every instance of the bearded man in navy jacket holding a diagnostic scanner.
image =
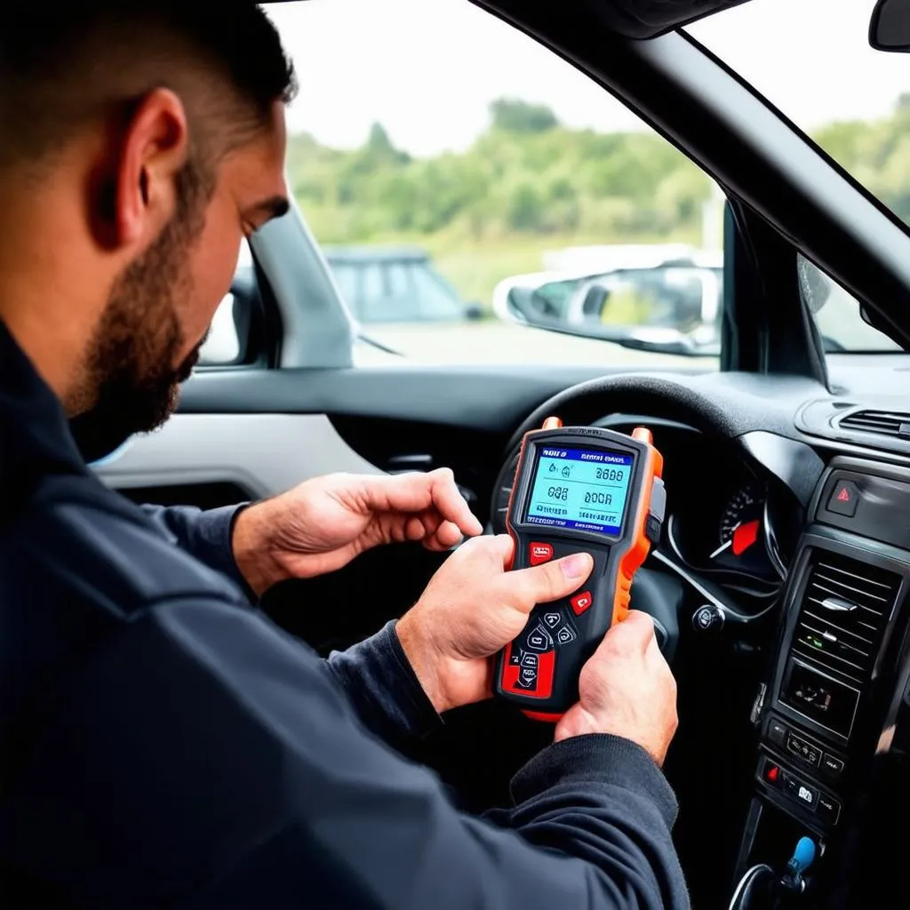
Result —
M13 3L0 44L4 904L686 905L646 616L606 636L513 808L459 814L389 748L487 697L490 655L590 557L507 573L508 538L469 541L321 661L228 576L259 593L382 542L448 549L480 531L448 472L149 515L79 457L67 416L167 417L241 235L288 206L292 76L265 16Z

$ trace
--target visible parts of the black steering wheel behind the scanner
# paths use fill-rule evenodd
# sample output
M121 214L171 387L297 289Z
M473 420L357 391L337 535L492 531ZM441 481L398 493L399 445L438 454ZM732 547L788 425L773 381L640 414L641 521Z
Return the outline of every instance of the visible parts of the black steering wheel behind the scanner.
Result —
M678 377L623 374L581 382L544 401L521 422L512 434L507 448L507 460L497 479L495 497L511 489L521 438L529 430L537 430L548 417L559 417L567 426L587 426L605 414L642 414L662 420L674 420L700 430L706 436L732 439L741 431L735 414L724 410L713 399L687 385ZM642 421L645 424L647 420ZM499 500L494 501L494 516L502 512ZM497 508L498 506L498 508ZM632 609L649 613L663 627L659 635L662 651L668 660L676 650L680 634L680 613L686 600L686 588L694 588L702 602L711 606L720 623L748 622L753 617L737 611L717 585L696 577L671 554L661 550L652 553L667 571L642 567L632 582ZM687 620L688 622L688 620Z

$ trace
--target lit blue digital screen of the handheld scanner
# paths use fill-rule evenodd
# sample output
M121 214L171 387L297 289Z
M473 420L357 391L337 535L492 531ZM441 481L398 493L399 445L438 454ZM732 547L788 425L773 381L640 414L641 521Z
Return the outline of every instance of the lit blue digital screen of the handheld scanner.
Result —
M576 531L622 531L632 455L591 449L541 448L526 521Z

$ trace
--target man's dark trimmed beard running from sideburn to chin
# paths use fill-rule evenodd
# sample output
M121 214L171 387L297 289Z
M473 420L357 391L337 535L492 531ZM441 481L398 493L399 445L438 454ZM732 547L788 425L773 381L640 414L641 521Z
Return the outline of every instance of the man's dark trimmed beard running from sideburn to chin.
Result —
M193 290L189 252L201 229L204 195L195 168L181 177L175 216L116 278L89 348L84 388L92 404L71 424L86 460L164 423L199 358L201 339L173 366L185 343L175 301Z

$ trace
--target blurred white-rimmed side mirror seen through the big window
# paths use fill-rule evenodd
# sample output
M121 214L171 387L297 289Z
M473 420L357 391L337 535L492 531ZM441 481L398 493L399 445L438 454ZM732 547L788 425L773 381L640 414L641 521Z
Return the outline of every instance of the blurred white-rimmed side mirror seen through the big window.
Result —
M718 343L723 270L693 265L618 268L584 276L508 278L494 292L501 319L611 340Z

